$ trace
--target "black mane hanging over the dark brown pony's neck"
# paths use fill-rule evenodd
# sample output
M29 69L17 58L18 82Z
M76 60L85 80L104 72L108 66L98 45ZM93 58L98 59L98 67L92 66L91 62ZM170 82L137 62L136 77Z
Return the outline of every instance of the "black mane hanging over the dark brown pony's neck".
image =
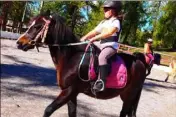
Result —
M79 42L70 27L66 26L65 19L58 14L52 15L51 24L46 38L46 44L64 45Z

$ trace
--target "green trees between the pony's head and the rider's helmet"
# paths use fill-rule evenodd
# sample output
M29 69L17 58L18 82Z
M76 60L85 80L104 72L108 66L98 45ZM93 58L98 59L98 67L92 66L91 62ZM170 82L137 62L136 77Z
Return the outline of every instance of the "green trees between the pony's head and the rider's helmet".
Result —
M50 9L53 13L59 13L66 19L67 25L72 28L75 34L81 37L103 19L101 8L103 2L97 2L97 4L93 4L92 1L50 1L44 3L42 10ZM85 19L81 10L87 13L88 19Z

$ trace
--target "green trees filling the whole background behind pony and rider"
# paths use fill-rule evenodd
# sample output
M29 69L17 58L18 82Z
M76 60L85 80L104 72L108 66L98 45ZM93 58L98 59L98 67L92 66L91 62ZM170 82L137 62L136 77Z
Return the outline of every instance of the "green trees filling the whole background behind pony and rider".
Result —
M91 31L104 19L102 4L96 1L44 1L42 11L50 10L66 19L66 23L74 33L81 37ZM37 7L41 1L10 1L11 7L3 10L0 2L0 13L15 22L22 20L25 4L27 9L24 22L40 13ZM156 48L176 48L176 2L175 1L123 1L123 20L120 42L132 46L143 47L150 37L154 39ZM87 14L87 15L86 15ZM85 15L87 18L85 18ZM144 26L148 24L148 27ZM141 30L144 29L144 30Z

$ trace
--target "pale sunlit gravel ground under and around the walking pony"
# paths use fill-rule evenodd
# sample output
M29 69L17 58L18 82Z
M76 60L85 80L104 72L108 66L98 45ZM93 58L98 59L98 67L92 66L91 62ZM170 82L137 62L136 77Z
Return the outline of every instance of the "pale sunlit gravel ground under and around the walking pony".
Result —
M161 72L155 69L151 76ZM1 39L1 117L42 117L60 92L55 77L47 48L23 52L14 40ZM79 94L77 116L118 117L121 106L119 97L98 100ZM137 116L176 117L176 84L146 80ZM68 117L67 106L51 117Z

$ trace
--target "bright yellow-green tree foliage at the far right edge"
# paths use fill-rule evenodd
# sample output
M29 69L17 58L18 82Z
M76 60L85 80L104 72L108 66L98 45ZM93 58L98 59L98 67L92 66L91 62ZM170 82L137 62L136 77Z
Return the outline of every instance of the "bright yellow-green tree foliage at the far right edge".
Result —
M162 8L163 15L155 25L153 37L157 48L176 48L176 2L169 1Z

